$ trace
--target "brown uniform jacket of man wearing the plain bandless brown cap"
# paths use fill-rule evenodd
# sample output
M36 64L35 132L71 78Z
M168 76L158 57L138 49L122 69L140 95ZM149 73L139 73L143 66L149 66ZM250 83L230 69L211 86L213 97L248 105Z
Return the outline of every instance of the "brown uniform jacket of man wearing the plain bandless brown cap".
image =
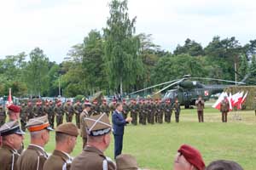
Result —
M71 157L60 150L54 150L48 160L44 163L44 170L69 170L71 166Z

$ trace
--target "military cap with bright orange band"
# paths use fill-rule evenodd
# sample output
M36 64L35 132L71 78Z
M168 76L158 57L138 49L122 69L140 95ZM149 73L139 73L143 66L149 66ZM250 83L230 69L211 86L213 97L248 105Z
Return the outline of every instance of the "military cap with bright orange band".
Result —
M44 129L47 129L49 131L53 130L49 125L47 116L40 116L29 119L29 121L26 124L26 127L29 130L29 132L41 131Z

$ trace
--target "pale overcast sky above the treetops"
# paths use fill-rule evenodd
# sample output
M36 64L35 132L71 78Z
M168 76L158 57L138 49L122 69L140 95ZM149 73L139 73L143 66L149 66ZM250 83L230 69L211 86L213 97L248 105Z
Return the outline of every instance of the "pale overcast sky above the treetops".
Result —
M0 59L33 48L60 63L92 29L106 26L110 0L0 0ZM128 0L137 33L173 51L189 37L205 47L213 36L256 39L253 0Z

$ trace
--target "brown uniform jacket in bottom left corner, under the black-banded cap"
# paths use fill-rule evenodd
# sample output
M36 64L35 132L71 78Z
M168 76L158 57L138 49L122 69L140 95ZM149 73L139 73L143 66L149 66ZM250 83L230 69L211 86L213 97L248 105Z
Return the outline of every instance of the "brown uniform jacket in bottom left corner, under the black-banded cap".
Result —
M16 162L20 154L9 147L9 145L3 144L0 148L0 170L16 170Z

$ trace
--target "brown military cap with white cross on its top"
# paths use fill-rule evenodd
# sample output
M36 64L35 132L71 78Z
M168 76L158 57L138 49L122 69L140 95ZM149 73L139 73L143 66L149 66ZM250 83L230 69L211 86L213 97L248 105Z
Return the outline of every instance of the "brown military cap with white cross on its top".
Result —
M105 113L84 118L86 131L90 136L100 136L112 131L112 126Z

